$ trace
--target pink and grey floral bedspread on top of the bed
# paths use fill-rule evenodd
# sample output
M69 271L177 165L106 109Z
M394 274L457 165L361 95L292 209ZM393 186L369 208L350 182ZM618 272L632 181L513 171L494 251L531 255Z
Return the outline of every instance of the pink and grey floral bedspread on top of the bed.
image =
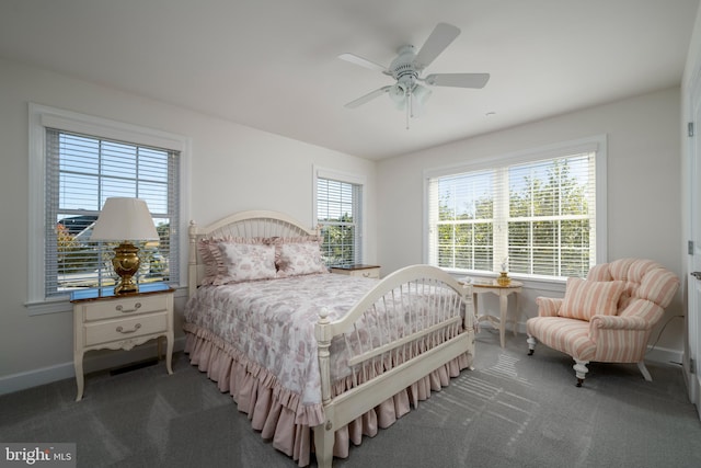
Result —
M321 402L314 323L322 308L343 317L378 279L317 274L223 286L202 286L185 308L185 322L232 345L300 396ZM332 373L333 374L333 373Z

